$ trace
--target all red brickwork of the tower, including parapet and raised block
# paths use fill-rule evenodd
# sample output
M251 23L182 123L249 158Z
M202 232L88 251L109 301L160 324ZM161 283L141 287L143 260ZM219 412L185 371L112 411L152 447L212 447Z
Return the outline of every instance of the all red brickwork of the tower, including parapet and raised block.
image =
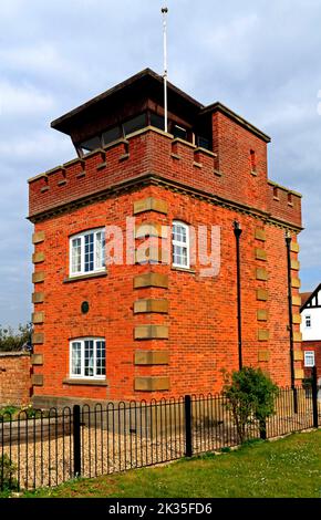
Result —
M43 386L34 387L35 398L130 399L219 391L221 370L238 368L235 220L242 228L244 364L261 366L279 385L290 384L284 231L291 229L297 240L300 198L294 197L293 207L288 207L286 200L278 201L279 206L270 214L266 144L248 131L235 124L232 129L230 125L224 116L218 117L215 134L218 157L147 131L130 138L127 147L120 144L105 155L92 154L84 165L81 162L65 165L64 169L31 181L34 230L44 232L44 240L35 245L35 251L44 254L44 260L35 264L35 273L45 275L44 281L34 284L34 292L44 294L44 302L34 306L35 312L44 313L43 323L35 325L35 333L44 334L43 344L34 345L35 353L43 354L43 365L33 368L35 376L43 375ZM249 149L257 153L257 176L250 173ZM126 152L128 155L124 155ZM79 177L83 166L85 176ZM154 175L152 181L116 191L117 183L147 173ZM165 180L157 181L157 176ZM114 191L102 195L100 200L89 200L43 219L35 217L112 186ZM168 211L142 212L137 222L153 220L170 226L174 219L179 219L196 228L220 227L219 274L200 277L198 263L193 267L195 272L176 271L166 264L123 264L110 266L104 278L64 283L69 273L69 237L107 225L120 226L125 233L126 217L133 217L134 201L146 197L166 201ZM287 209L279 210L284 205ZM289 223L282 227L276 222L278 218ZM265 230L266 240L256 238L257 228ZM256 258L256 249L267 252L267 261ZM297 260L297 253L291 257ZM260 268L266 269L267 280L257 279ZM168 274L168 289L134 289L134 277L149 271ZM292 277L298 278L298 271ZM259 289L267 291L267 301L258 301ZM297 288L293 295L298 295ZM134 302L143 298L167 299L168 314L134 314ZM81 313L82 301L90 303L87 314ZM298 305L294 314L299 313ZM258 310L268 312L266 322L258 321ZM169 339L135 341L134 327L143 324L168 325ZM299 332L298 324L294 331ZM266 334L261 341L259 333ZM63 383L69 376L69 341L80 336L106 339L107 387ZM300 343L296 349L300 349ZM135 365L137 350L167 351L169 364ZM296 368L301 368L300 361ZM168 391L135 392L135 378L144 376L169 377Z

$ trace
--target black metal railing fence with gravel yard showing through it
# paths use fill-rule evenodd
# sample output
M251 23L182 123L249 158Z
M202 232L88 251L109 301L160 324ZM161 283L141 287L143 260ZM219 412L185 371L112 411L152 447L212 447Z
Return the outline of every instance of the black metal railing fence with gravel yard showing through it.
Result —
M272 438L318 427L321 401L312 385L280 388L276 413L252 422L246 438ZM29 417L0 417L0 489L58 486L71 478L96 477L240 444L226 397L187 395L149 403L75 405L39 410Z

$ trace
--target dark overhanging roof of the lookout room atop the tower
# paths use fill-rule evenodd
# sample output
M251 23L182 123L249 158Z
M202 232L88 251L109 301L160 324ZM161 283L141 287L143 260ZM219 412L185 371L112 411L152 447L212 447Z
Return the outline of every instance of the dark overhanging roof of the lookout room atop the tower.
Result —
M103 129L118 124L146 108L162 114L164 107L164 80L151 69L144 69L128 80L93 97L51 123L52 128L72 137L74 143L89 138ZM265 142L270 137L248 123L221 103L204 106L177 86L168 82L168 116L176 116L194 126L209 121L219 111L258 135Z

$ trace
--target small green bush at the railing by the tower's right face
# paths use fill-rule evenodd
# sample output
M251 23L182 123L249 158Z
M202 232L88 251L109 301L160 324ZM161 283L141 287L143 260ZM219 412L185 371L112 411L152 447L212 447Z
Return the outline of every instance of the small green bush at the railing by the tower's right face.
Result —
M247 438L247 427L256 423L259 424L261 437L266 438L266 420L275 413L278 392L261 368L244 366L239 372L226 375L226 406L232 413L240 443Z

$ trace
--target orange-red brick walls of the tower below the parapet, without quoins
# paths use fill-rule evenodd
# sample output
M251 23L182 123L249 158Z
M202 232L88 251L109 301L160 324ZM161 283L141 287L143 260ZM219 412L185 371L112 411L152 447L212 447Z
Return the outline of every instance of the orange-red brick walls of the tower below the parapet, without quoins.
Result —
M170 225L174 219L195 227L216 225L221 228L221 269L216 278L201 278L199 266L195 273L178 272L169 266L111 266L106 278L63 283L69 272L69 236L106 225L125 229L125 218L133 216L134 200L145 197L166 200L168 215L142 214L137 222L157 220ZM44 333L44 344L35 345L43 353L44 365L35 366L34 374L44 375L44 386L35 387L35 395L121 399L144 397L134 393L137 376L169 376L170 395L186 392L219 391L221 368L238 367L236 309L236 247L232 222L238 219L241 236L244 363L260 365L279 384L290 384L290 354L287 303L287 254L284 231L265 226L250 216L239 215L204 200L191 199L161 187L146 187L120 195L114 199L86 206L75 211L39 222L35 230L45 232L45 240L37 246L43 251L45 280L35 284L45 300L35 305L43 311L44 324L35 332ZM266 229L267 241L255 239L255 229ZM255 258L255 249L265 248L268 261ZM266 267L269 280L256 280L256 269ZM133 289L134 275L154 272L168 273L169 289ZM257 289L269 291L267 302L257 301ZM134 301L141 298L166 298L169 313L133 315ZM90 312L81 313L81 302L90 302ZM266 309L269 321L260 324L257 310ZM167 324L169 340L134 341L135 325ZM258 330L267 329L270 340L258 341ZM70 386L62 384L69 375L69 340L79 336L106 339L108 387ZM168 350L169 365L134 366L136 350ZM259 363L259 351L269 351L270 358ZM298 367L300 364L298 364ZM154 394L161 396L164 393Z

